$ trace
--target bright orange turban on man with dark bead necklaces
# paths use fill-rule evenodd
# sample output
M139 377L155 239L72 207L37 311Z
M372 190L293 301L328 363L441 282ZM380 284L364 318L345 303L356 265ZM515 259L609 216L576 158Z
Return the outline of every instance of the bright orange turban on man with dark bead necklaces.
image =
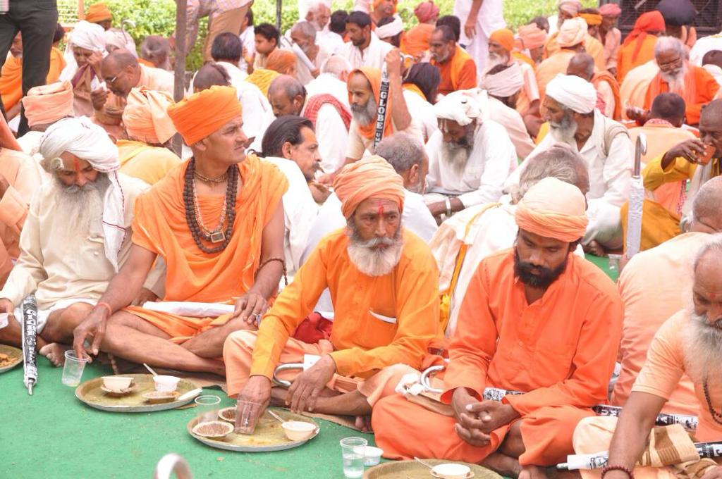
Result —
M218 85L193 93L168 107L168 116L188 146L218 131L240 114L240 102L235 88Z

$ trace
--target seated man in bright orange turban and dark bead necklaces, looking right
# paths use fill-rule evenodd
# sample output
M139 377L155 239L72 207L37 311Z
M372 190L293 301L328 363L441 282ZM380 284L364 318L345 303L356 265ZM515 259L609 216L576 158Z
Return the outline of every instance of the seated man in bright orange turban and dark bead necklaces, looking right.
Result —
M74 348L224 376L225 338L255 328L278 289L288 183L273 165L245 155L235 89L211 87L168 115L193 157L136 201L129 259L76 328ZM167 271L163 300L186 307L129 306L158 258ZM92 346L84 346L89 337Z

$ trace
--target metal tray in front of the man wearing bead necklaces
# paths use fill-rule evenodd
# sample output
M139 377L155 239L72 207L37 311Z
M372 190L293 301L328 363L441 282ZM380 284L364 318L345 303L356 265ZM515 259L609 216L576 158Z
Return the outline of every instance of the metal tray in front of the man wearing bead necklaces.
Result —
M75 390L75 397L91 408L110 411L111 413L152 413L157 410L175 409L191 403L196 397L193 396L183 401L175 400L170 403L149 404L143 395L146 392L155 390L152 375L118 374L118 376L132 377L137 385L136 389L126 396L111 397L100 389L103 385L103 378L96 377L80 384ZM186 392L197 388L198 386L188 379L181 379L178 382L178 396L180 397Z

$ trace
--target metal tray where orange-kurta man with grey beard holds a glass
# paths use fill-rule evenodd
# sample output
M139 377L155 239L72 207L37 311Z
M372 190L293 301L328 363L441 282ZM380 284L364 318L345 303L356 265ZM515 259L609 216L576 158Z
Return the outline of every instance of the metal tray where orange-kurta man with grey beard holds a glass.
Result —
M256 431L253 432L253 436L235 434L235 432L228 434L228 436L222 440L196 436L196 434L193 434L193 426L196 426L198 423L198 418L191 419L191 421L188 422L186 429L188 429L188 434L191 434L194 439L201 441L207 446L237 452L284 451L285 449L303 446L303 444L318 436L318 423L313 421L313 419L301 416L300 414L292 413L286 409L272 409L274 410L274 413L277 413L286 421L303 421L306 423L316 424L316 432L313 433L313 436L310 436L310 438L304 439L303 441L290 441L290 439L288 439L283 433L281 423L272 418L269 413L264 413L264 415L258 419L258 425L256 426Z

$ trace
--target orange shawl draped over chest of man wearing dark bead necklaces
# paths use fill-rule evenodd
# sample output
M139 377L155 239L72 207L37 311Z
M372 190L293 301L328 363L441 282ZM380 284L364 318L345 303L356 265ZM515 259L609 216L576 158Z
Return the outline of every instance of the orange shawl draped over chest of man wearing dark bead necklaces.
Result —
M249 155L238 164L236 218L228 247L208 255L196 246L186 223L183 176L188 162L139 196L135 204L133 242L165 259L164 301L227 302L253 286L261 257L261 234L271 220L288 181L273 164ZM201 216L217 221L222 196L199 195Z

